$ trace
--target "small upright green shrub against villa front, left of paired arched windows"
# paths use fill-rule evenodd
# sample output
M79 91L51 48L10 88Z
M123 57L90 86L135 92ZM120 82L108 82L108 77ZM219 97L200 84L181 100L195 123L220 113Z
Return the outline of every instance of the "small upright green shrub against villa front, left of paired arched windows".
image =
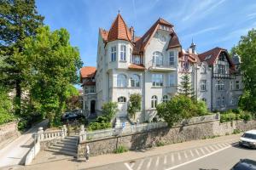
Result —
M141 94L131 94L130 104L128 105L129 116L135 118L136 111L141 110L142 96Z

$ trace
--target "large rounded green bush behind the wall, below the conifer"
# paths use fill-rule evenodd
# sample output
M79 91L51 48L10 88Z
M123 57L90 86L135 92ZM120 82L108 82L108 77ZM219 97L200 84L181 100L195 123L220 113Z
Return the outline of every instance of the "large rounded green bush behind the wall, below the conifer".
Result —
M162 102L156 106L157 114L163 118L169 127L197 115L197 108L192 99L185 95L174 96L168 102Z

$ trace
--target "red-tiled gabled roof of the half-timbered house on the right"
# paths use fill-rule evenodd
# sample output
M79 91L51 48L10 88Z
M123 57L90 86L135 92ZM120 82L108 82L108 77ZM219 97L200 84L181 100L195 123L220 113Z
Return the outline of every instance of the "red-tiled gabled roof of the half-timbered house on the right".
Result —
M227 56L227 59L230 63L230 67L234 67L234 64L232 62L232 60L230 59L230 55L228 53L228 51L224 48L212 48L209 51L206 51L202 54L199 54L198 57L201 60L201 62L206 61L208 65L213 65L215 60L218 58L218 55L224 52Z

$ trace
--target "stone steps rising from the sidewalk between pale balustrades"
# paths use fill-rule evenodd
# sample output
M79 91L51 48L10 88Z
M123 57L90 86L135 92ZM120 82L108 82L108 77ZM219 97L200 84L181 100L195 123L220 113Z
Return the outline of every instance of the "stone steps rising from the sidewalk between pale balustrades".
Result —
M78 138L78 136L67 136L64 139L61 139L61 141L49 146L49 148L46 150L67 156L77 157Z

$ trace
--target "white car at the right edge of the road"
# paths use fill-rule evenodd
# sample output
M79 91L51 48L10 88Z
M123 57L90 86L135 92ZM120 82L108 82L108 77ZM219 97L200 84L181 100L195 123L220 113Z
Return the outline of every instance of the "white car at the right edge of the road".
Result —
M239 144L241 146L247 146L256 149L256 130L250 130L243 133L240 138Z

